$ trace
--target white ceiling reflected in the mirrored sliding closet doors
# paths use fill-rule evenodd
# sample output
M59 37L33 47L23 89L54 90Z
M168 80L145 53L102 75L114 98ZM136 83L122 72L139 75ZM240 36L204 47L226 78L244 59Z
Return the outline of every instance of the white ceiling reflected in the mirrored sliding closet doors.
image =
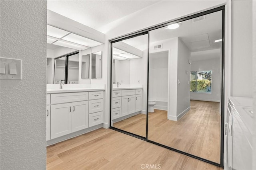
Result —
M200 17L202 18L202 17ZM222 12L214 12L204 16L204 20L197 18L178 23L177 29L162 27L150 31L150 43L180 37L191 52L220 49L222 42L214 43L214 40L222 39ZM147 35L141 35L123 40L133 47L146 50L148 46ZM155 44L157 45L157 44Z

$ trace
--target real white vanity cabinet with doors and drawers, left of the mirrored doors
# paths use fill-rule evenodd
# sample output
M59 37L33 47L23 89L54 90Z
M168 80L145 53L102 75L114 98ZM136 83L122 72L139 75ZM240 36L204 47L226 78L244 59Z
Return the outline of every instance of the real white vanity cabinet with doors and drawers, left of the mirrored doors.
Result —
M78 133L86 132L86 128L103 123L103 91L59 92L47 96L51 101L46 109L47 141L72 136L71 133L83 129Z

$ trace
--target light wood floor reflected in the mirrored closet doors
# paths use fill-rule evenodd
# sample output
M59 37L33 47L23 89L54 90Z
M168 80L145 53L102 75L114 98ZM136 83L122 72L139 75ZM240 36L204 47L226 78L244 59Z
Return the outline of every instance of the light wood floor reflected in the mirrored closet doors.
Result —
M191 109L179 121L167 119L167 111L148 115L148 139L184 152L220 162L219 102L190 101ZM114 127L146 135L146 115L138 114L114 123Z

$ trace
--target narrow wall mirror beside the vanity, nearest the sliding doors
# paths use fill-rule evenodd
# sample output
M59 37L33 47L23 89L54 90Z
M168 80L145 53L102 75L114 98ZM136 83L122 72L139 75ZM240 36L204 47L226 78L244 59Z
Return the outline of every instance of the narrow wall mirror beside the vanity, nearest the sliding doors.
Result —
M92 78L102 78L102 51L92 53Z

